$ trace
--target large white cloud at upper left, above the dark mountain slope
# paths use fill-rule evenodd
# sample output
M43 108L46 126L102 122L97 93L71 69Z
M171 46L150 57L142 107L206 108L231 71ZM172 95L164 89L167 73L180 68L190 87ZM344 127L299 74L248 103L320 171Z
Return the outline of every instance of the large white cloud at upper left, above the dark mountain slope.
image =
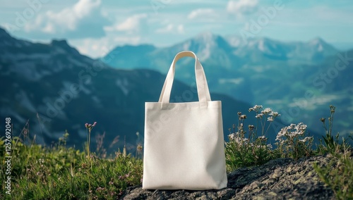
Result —
M47 11L37 15L34 23L25 25L25 32L55 37L102 37L109 24L100 12L101 0L79 0L59 12ZM49 36L52 37L52 36Z

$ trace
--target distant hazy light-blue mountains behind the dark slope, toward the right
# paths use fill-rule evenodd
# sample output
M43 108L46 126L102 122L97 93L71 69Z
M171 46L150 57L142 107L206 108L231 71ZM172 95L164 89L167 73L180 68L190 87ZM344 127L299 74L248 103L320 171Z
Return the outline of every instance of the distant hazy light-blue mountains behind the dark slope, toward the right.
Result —
M353 48L352 48L353 49ZM119 69L167 70L179 51L194 51L208 76L211 92L249 104L262 104L282 113L285 123L304 122L323 132L321 117L337 107L335 131L353 132L353 50L340 52L321 38L309 42L280 42L268 38L222 37L204 32L167 47L151 44L117 46L107 56ZM337 66L336 63L339 62ZM177 63L176 77L190 85L193 61Z

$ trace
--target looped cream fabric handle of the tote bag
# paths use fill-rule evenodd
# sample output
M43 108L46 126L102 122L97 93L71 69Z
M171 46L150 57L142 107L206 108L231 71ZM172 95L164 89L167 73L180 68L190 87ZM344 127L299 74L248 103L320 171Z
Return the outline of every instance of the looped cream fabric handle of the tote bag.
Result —
M177 63L179 58L186 56L195 58L196 87L198 90L198 101L200 102L200 107L207 107L207 101L211 101L205 71L203 70L203 67L196 54L194 54L192 51L181 51L174 57L172 65L170 65L167 77L164 81L162 92L160 94L160 100L158 101L162 103L162 108L164 108L169 103L170 93L172 92L172 85L174 81L175 63Z

